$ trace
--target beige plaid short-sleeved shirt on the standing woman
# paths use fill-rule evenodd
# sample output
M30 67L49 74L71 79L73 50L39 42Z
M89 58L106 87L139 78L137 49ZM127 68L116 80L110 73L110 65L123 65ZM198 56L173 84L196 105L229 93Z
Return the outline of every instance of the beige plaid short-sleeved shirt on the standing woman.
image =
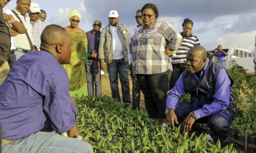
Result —
M148 29L139 27L131 40L134 74L172 70L165 48L177 50L182 36L171 25L157 21Z

